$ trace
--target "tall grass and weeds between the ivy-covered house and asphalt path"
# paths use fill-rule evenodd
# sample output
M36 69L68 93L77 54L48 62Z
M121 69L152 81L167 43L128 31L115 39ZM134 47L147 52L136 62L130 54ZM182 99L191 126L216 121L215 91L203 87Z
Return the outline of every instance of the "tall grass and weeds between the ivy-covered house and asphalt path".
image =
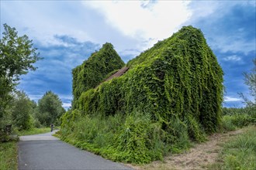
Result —
M168 131L163 131L150 114L86 115L70 126L61 128L62 140L118 162L162 160L167 152L177 153L190 145L185 124L169 122Z

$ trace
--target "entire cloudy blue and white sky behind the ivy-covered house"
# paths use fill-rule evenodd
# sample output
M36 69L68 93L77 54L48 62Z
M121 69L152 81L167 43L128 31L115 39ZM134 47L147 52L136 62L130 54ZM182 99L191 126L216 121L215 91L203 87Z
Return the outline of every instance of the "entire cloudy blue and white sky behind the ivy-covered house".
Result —
M33 39L43 60L22 76L19 90L38 100L47 90L64 107L72 100L71 70L103 43L111 42L127 62L182 26L204 33L224 70L226 107L242 107L247 94L244 72L256 57L255 8L252 1L7 1L0 0L2 25Z

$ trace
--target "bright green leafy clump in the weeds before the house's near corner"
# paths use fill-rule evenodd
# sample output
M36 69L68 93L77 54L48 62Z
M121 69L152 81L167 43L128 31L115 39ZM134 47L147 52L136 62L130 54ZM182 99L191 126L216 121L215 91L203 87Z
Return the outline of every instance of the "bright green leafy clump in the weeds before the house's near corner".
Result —
M120 158L117 157L119 161L143 164L161 159L164 146L160 143L162 146L155 148L155 143L161 141L156 138L156 132L161 132L161 128L150 121L149 115L128 115L116 138L116 149L122 154Z

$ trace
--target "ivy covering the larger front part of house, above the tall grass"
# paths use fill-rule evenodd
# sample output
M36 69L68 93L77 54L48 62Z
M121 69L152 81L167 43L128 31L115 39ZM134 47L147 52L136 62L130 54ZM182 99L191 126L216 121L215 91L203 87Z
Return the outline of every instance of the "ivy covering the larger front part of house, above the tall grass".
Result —
M170 126L171 119L178 118L187 125L190 137L198 140L200 129L213 132L219 127L223 70L199 29L183 27L130 60L127 66L130 70L123 76L91 90L89 87L104 76L94 70L83 73L83 77L76 74L74 84L90 84L74 91L75 96L84 91L78 110L102 115L150 113L152 119L162 122L163 129ZM95 80L87 83L85 75L94 76Z

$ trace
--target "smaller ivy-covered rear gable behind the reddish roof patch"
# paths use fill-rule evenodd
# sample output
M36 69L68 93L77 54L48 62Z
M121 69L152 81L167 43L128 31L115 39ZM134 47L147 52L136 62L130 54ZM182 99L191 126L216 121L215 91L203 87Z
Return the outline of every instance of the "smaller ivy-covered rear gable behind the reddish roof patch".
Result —
M72 70L73 74L73 105L81 93L92 89L105 80L109 73L124 66L123 60L116 53L111 43L106 43L98 52L92 53L81 66Z

